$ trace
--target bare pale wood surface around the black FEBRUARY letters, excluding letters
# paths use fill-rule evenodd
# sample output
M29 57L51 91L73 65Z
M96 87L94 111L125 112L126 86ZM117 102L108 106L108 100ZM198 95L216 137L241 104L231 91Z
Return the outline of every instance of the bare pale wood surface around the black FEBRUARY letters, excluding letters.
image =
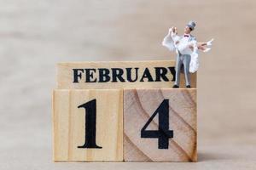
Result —
M174 74L172 74L172 71L170 71L169 69L170 67L174 69L174 60L59 63L57 65L57 87L59 89L172 88L174 84L172 75L175 75L175 72ZM119 79L117 79L116 82L113 81L113 71L111 70L113 68L118 68L124 71L122 77L124 78L125 82L121 82ZM131 69L131 79L137 81L127 81L127 72L129 71L127 71L126 68ZM135 70L136 68L137 71ZM147 77L143 78L143 82L140 81L146 68L148 68L150 76L152 76L152 82L148 82ZM165 75L168 79L167 81L164 80L164 78L162 77L160 77L160 80L157 80L157 68L165 69ZM81 74L81 78L79 79L79 82L74 82L73 69L95 69L95 71L90 71L90 81L92 82L86 82L85 71L79 71L79 74ZM99 69L109 70L109 81L99 82ZM160 73L164 73L165 71L160 70ZM93 82L95 80L96 82ZM185 86L183 73L181 74L180 81L180 87L183 88ZM196 73L191 74L191 87L196 88Z

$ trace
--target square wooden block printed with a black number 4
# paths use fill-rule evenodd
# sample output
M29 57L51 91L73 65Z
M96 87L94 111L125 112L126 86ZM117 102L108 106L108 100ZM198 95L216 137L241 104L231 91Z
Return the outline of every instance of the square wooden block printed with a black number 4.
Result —
M197 161L196 89L124 90L125 161Z

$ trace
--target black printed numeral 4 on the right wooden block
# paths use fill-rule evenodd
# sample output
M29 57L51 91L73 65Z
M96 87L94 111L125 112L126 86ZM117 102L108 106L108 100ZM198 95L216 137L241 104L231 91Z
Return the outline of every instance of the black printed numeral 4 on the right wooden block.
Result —
M158 130L146 130L157 113L159 114ZM141 130L141 138L157 138L158 149L168 149L169 138L173 138L173 131L169 130L169 99L164 99L153 115L150 116Z

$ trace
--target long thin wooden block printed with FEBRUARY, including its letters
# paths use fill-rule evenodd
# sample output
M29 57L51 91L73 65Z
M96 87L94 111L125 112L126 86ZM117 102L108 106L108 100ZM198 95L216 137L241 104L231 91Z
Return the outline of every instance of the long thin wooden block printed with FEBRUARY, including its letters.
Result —
M172 88L175 61L78 62L57 65L57 87L60 89L101 88ZM180 86L185 86L181 74ZM196 74L191 74L196 87Z

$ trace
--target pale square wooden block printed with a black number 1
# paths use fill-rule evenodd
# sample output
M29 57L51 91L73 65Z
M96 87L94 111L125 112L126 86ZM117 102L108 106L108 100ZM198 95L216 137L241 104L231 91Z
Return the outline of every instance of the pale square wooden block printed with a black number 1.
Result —
M122 90L55 90L54 161L123 161Z

